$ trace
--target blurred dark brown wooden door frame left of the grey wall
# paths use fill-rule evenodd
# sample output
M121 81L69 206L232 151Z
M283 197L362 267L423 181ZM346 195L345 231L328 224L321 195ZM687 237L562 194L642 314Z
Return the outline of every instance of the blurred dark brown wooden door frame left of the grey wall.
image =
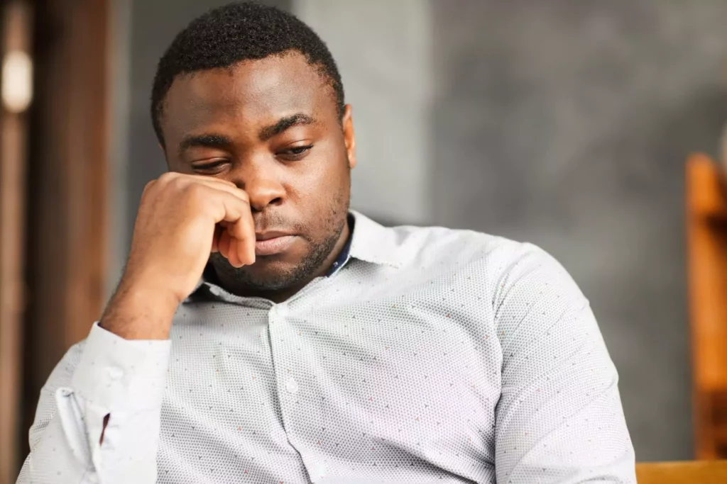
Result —
M33 2L20 456L41 387L105 302L112 1Z

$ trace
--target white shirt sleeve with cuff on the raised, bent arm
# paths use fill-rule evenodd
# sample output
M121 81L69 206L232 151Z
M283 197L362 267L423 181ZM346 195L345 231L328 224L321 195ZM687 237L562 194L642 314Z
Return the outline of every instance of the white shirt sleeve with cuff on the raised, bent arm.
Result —
M124 340L94 324L41 390L17 483L156 483L170 349L169 340Z

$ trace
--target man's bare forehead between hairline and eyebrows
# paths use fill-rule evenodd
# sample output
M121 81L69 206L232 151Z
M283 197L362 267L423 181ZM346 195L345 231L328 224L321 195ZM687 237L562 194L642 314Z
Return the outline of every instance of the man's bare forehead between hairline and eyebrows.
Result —
M164 100L164 138L230 123L250 128L298 112L336 117L327 78L297 52L177 76Z

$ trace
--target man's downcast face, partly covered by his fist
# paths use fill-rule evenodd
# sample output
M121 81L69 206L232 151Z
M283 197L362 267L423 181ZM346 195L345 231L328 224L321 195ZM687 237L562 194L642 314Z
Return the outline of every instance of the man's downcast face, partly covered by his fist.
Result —
M321 274L348 234L350 107L341 123L334 91L297 52L181 75L161 118L169 170L244 189L258 239L293 235L252 266L211 261L235 292L281 290Z

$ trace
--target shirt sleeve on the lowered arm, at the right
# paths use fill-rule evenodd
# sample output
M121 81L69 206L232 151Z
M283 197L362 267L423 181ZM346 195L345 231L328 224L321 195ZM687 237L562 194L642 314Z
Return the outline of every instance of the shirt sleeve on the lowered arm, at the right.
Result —
M522 245L493 298L502 347L498 483L635 483L618 374L565 269Z

